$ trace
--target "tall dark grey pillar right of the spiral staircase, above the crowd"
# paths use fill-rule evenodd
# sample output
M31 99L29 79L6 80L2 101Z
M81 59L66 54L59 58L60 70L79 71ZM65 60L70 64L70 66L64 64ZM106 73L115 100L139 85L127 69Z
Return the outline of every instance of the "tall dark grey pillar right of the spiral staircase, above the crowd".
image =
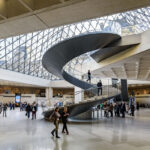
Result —
M128 101L128 83L126 79L121 79L121 96L123 101Z

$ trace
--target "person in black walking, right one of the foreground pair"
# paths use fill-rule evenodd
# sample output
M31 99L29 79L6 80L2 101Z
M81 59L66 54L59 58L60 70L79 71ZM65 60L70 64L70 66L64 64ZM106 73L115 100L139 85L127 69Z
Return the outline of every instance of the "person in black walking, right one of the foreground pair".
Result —
M68 128L67 128L68 116L69 116L69 113L68 113L67 107L64 107L64 111L62 113L62 123L63 123L62 133L65 133L65 131L66 131L67 135L69 135Z

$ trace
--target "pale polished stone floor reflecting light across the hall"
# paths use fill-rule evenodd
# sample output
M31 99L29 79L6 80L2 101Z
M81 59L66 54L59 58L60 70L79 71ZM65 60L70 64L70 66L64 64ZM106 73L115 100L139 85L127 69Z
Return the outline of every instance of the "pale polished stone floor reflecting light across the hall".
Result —
M60 133L61 139L51 137L52 128L40 113L32 121L18 109L8 111L7 118L0 115L0 150L150 150L150 109L135 118L69 124L70 135Z

